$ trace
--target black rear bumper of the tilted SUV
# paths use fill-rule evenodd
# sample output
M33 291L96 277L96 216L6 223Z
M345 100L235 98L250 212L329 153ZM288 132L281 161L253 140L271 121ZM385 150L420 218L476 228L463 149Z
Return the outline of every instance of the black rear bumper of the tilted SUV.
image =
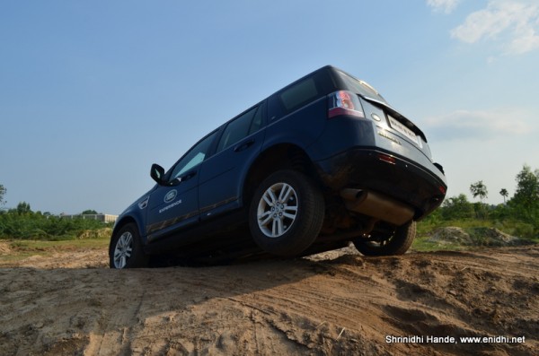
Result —
M435 210L446 195L446 178L434 164L427 169L379 148L353 148L314 163L332 191L354 188L381 193L411 206L414 220Z

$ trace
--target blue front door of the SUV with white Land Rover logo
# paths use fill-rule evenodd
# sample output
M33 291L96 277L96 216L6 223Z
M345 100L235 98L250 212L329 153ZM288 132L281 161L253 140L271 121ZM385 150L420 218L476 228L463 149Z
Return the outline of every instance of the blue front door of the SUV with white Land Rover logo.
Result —
M195 144L166 174L148 200L146 234L152 242L199 221L199 169L213 150L217 131Z

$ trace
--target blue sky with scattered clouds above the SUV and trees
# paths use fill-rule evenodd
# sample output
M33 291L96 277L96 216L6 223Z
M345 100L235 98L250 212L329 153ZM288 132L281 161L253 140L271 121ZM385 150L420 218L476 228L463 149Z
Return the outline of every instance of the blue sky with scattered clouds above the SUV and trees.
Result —
M120 213L210 130L323 65L429 139L448 195L539 169L539 1L3 1L5 208ZM470 196L472 200L472 197Z

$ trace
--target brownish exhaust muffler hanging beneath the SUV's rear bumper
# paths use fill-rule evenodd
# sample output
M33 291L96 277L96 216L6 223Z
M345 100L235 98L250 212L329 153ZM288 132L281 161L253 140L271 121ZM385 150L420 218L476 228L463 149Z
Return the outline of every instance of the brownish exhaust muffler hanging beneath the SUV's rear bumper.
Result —
M415 213L410 206L369 190L346 188L340 191L340 196L348 210L397 226L411 221Z

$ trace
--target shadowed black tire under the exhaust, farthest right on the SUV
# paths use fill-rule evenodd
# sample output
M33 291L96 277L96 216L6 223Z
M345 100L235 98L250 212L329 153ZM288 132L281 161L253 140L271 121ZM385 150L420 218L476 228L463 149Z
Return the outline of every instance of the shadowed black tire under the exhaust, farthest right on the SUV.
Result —
M390 236L378 239L358 238L353 243L358 251L365 256L403 255L411 247L415 236L416 222L410 221L398 227Z

